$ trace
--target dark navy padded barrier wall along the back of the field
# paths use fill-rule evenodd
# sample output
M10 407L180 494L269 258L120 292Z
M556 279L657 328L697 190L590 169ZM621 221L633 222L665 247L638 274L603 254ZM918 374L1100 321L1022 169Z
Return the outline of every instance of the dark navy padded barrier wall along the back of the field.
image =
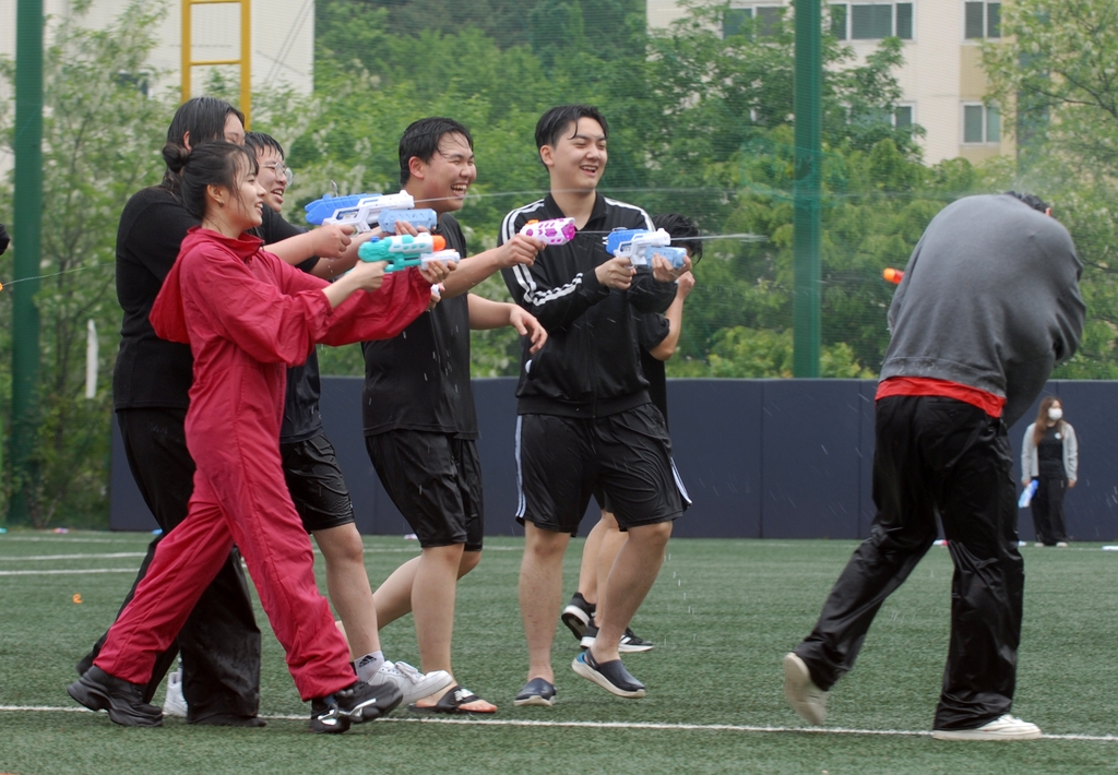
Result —
M522 535L517 504L515 379L474 380L491 536ZM864 538L873 518L872 380L672 379L674 456L694 505L675 523L691 538ZM1073 539L1118 539L1118 382L1052 381L1079 437L1079 484L1065 501ZM1039 405L1039 401L1038 401ZM1038 405L1010 429L1020 490L1021 442ZM322 419L349 483L358 528L404 535L407 523L369 464L361 434L361 379L322 379ZM151 530L113 425L111 527ZM588 514L594 510L594 504ZM1023 540L1032 518L1020 511ZM584 530L593 526L589 519Z

